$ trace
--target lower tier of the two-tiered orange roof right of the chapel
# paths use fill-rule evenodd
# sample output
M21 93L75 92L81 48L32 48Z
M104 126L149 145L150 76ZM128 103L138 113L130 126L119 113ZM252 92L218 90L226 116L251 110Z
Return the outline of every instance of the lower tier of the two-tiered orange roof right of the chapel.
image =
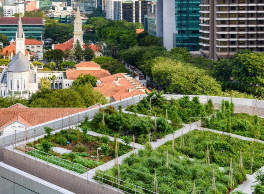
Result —
M105 72L105 70L101 68L99 68L98 70L73 68L73 69L66 70L66 76L67 76L67 79L76 79L81 74L91 74L92 76L96 76L97 79L100 79L100 78L104 78L104 77L111 75L109 71L107 72Z

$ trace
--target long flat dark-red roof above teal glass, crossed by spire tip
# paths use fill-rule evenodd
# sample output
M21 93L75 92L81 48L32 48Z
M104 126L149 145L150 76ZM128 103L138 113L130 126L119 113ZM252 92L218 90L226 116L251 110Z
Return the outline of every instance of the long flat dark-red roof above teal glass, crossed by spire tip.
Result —
M21 17L23 24L42 24L42 17ZM0 17L0 25L18 24L18 17Z

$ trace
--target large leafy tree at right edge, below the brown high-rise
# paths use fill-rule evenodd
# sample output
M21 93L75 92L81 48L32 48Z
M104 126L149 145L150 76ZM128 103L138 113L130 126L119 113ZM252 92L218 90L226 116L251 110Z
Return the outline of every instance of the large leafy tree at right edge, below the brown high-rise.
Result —
M263 97L264 54L241 51L232 59L232 76L239 82L243 91Z

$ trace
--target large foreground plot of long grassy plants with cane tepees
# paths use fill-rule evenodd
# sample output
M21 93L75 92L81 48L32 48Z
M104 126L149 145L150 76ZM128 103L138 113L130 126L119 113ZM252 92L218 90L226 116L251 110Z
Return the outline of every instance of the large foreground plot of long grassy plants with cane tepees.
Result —
M180 155L184 157L181 158ZM117 165L115 165L103 173L117 177L117 169ZM177 150L173 152L171 146L168 146L168 155L164 146L155 150L151 146L146 146L144 150L139 149L135 156L131 154L130 157L125 158L119 169L121 184L128 187L127 183L123 182L126 181L140 186L141 188L138 188L137 191L143 193L151 193L145 189L156 191L155 182L157 180L157 189L160 194L194 193L194 181L197 194L226 194L246 180L246 170L239 168L239 164L236 162L232 165L233 176L232 174L229 176L229 167L221 170L219 165L214 162L208 164L205 160L189 160L187 155ZM108 176L104 176L107 179L104 181L105 184L111 184L109 181L115 181L114 178L110 180ZM155 176L157 177L156 180ZM94 179L100 181L99 177L94 177ZM213 177L215 188L212 186ZM233 178L232 183L231 177ZM120 189L132 193L126 187L119 186Z

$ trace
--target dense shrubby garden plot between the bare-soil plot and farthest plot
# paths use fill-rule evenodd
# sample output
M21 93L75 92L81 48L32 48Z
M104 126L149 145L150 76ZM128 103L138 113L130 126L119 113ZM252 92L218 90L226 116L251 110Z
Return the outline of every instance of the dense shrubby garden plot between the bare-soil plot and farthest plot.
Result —
M149 140L149 130L152 133L152 140L155 141L181 128L180 123L180 120L175 120L169 124L165 117L157 117L153 120L149 116L123 113L121 106L118 111L113 106L108 106L105 109L101 108L91 121L86 117L81 128L130 141L135 135L137 143L145 144Z

